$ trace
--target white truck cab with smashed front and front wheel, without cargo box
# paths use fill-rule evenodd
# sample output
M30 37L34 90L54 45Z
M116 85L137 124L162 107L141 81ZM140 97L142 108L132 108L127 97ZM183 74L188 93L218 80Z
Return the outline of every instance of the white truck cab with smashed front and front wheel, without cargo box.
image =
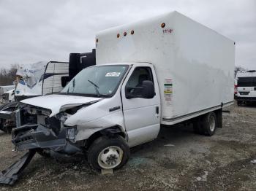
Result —
M129 147L151 141L159 133L159 87L151 63L91 66L80 71L60 93L22 103L17 113L18 128L12 130L16 149L72 155L96 147L89 152L94 168L123 165ZM97 153L102 160L95 163L95 152L102 149L98 148L101 144L94 145L97 137L101 140L102 135L113 134L101 141L105 153Z

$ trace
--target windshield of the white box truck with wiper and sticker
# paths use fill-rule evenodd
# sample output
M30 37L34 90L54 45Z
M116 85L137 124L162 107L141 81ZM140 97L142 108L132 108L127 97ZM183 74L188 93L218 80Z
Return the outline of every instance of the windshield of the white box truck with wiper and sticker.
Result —
M80 71L61 93L111 96L127 71L127 65L93 66Z

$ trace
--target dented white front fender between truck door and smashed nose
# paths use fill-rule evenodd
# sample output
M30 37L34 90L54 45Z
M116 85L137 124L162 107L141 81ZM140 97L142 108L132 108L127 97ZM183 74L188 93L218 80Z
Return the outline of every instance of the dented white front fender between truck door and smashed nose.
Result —
M93 133L113 126L120 127L125 133L120 95L116 94L112 98L105 98L79 109L67 118L64 125L77 127L75 141L88 139Z

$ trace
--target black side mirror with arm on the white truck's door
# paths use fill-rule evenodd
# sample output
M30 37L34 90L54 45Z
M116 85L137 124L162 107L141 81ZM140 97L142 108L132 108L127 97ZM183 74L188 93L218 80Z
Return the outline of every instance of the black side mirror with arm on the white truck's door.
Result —
M125 96L127 99L131 98L154 98L154 84L151 81L145 80L140 87L126 87Z

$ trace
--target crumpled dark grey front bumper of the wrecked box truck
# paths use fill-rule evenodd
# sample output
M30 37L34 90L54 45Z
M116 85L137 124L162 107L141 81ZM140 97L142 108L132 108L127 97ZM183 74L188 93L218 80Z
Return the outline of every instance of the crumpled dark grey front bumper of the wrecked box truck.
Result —
M52 149L64 151L75 141L75 128L61 128L56 133L40 124L27 124L12 129L12 143L15 149Z

